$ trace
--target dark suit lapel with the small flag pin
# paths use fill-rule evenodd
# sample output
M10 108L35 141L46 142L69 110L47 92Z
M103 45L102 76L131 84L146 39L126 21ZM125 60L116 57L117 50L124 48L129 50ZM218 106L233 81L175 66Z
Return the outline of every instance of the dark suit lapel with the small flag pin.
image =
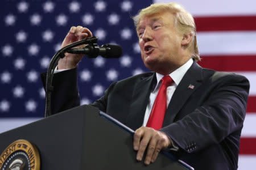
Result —
M175 116L179 113L188 97L201 85L201 74L202 68L194 61L172 96L164 116L163 126L167 126L174 122Z

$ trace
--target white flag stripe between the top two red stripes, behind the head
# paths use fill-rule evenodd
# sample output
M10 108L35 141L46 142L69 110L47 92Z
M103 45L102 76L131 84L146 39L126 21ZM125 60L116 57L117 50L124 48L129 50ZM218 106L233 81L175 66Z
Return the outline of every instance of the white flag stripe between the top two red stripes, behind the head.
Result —
M198 32L197 41L202 55L256 54L256 31Z

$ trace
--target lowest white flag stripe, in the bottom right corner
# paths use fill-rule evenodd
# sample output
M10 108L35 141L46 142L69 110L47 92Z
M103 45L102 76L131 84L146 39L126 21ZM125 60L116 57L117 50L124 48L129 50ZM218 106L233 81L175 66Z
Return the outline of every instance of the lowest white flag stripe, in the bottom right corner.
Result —
M255 169L256 155L239 155L238 170Z

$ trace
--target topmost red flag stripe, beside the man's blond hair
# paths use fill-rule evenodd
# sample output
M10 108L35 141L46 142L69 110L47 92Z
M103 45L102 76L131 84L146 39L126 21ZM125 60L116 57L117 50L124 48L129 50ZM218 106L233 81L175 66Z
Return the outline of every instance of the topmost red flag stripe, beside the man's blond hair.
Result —
M256 16L196 17L197 31L255 31Z

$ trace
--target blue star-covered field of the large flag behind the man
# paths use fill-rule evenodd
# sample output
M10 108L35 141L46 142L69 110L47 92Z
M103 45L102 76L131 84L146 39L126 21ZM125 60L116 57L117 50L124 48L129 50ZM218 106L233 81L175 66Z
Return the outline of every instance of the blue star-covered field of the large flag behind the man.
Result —
M88 27L98 44L118 44L118 59L84 57L79 63L81 104L104 95L114 81L143 73L131 16L152 1L4 1L0 11L0 118L43 117L45 92L40 73L60 49L71 26Z

